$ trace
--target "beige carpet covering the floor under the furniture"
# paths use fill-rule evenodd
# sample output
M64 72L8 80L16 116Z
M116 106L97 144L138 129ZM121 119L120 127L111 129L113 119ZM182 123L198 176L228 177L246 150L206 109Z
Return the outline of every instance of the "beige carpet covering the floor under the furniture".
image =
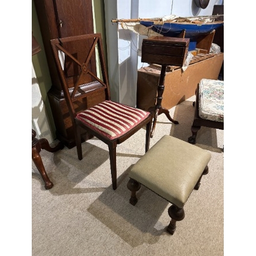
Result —
M179 121L158 117L151 146L168 134L187 141L194 117L194 97L170 110ZM41 151L48 176L46 190L32 162L32 255L214 255L224 254L223 135L202 127L197 146L212 155L209 174L188 199L185 219L173 236L165 231L170 206L144 187L136 206L129 203L129 169L144 154L142 129L117 147L118 188L111 185L108 147L96 138L57 153Z

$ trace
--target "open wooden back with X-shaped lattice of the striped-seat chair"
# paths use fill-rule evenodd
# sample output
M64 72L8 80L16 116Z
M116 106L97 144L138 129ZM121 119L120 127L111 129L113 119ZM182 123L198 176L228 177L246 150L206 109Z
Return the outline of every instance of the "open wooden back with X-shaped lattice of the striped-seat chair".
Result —
M98 33L52 39L51 44L74 124L77 113L111 98L101 35ZM100 62L99 69L96 68L97 60ZM95 99L93 94L100 95L97 96L99 102L92 100ZM89 99L86 96L91 97Z

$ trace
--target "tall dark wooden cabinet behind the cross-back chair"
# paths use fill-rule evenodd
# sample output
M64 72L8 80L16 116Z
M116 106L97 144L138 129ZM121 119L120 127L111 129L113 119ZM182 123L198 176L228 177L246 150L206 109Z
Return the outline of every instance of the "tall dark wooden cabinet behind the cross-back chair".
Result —
M48 92L49 102L56 127L56 137L69 148L75 146L73 127L68 107L63 96L57 69L55 66L50 40L81 34L94 33L91 0L34 0L42 39L46 51L52 87ZM75 46L76 48L79 45ZM96 61L91 63L96 69ZM74 84L70 84L73 87ZM102 95L81 99L84 109L99 103ZM86 131L83 139L90 138Z

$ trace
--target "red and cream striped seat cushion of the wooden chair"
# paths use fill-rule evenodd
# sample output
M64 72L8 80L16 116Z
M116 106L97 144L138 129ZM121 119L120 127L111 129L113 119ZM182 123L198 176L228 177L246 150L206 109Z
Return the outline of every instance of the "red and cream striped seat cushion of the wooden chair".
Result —
M76 118L109 139L116 139L150 115L140 109L105 100L79 113Z

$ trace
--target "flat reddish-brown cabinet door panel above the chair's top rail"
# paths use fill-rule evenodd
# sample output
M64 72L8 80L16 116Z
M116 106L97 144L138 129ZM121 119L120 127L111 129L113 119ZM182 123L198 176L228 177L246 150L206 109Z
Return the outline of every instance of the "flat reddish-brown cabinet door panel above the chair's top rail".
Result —
M93 33L91 0L55 0L59 37Z

